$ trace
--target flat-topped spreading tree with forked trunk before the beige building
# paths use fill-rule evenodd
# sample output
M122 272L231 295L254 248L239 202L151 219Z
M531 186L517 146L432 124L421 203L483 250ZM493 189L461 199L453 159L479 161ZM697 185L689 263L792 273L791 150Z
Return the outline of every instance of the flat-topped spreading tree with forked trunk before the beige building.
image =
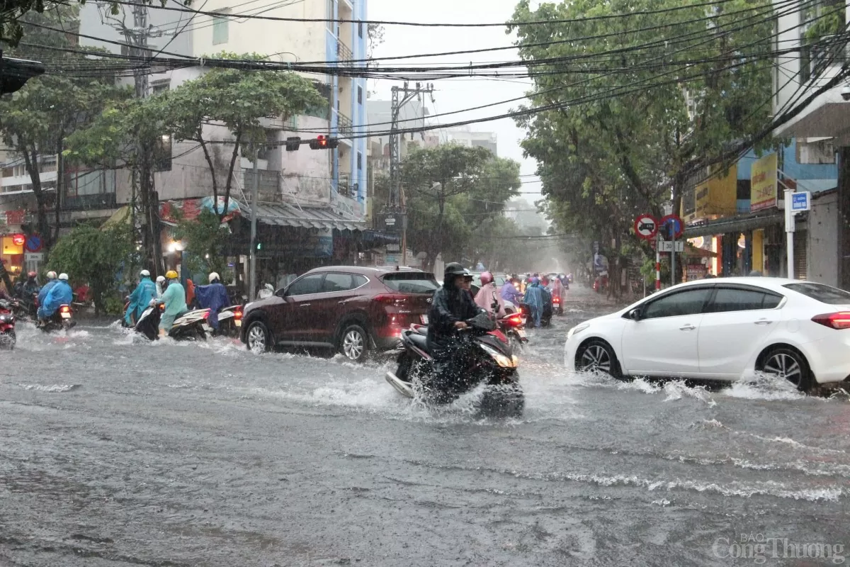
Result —
M220 59L263 60L258 54L228 54ZM212 176L213 203L218 207L221 171L210 146L214 133L210 124L226 128L233 136L233 146L224 177L224 207L219 218L227 214L233 173L242 151L247 147L264 145L266 130L263 118L286 122L302 114L310 106L328 104L313 83L296 73L286 71L241 71L217 67L201 77L184 82L167 94L164 128L175 139L190 140L201 145ZM253 156L251 156L253 158Z

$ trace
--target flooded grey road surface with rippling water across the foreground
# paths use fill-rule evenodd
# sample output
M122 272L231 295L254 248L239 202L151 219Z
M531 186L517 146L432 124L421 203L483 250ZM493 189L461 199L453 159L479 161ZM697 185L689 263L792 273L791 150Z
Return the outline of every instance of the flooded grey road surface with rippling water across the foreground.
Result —
M530 332L507 422L388 363L20 326L0 565L850 564L846 396L570 375L581 304Z

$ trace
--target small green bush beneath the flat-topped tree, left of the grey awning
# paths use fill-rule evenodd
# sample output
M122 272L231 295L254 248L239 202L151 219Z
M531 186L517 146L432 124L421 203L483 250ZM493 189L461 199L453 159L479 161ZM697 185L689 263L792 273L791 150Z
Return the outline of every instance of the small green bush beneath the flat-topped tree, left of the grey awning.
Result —
M183 241L184 250L189 252L186 263L190 274L218 272L223 281L228 281L224 246L230 230L226 224L221 224L218 215L204 209L193 220L180 220L174 235Z

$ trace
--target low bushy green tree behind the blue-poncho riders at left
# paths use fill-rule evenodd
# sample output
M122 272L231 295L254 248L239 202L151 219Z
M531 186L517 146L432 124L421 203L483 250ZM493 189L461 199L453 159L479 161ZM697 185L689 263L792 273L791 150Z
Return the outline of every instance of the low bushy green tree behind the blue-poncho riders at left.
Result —
M125 223L103 230L81 224L56 242L48 255L48 268L66 272L71 281L88 283L95 313L105 309L105 298L116 292L122 269L131 264L133 232Z

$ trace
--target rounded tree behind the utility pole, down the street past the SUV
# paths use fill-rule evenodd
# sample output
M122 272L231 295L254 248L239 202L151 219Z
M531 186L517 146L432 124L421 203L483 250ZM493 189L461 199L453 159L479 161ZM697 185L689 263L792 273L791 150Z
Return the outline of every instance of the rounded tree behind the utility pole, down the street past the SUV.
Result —
M519 164L500 161L484 148L454 144L411 153L401 163L401 176L411 243L428 252L429 264L439 252L465 249L471 230L483 220L465 221L465 209L467 218L486 207L498 214L519 189Z

